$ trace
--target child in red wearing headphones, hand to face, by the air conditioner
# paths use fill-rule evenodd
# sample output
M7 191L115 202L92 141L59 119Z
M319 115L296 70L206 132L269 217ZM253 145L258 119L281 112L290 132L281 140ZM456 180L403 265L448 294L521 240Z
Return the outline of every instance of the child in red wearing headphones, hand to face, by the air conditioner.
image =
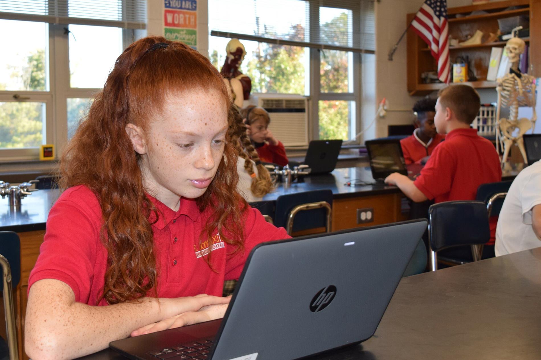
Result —
M287 165L289 162L286 156L286 148L276 139L271 130L268 129L271 117L269 113L259 106L249 105L241 110L245 120L247 134L258 151L261 161Z

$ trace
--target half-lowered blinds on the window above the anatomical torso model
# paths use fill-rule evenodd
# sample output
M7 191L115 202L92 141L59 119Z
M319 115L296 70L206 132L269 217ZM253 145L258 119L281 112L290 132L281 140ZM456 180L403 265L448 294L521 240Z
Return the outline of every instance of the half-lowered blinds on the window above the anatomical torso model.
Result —
M374 52L374 0L209 0L210 35Z

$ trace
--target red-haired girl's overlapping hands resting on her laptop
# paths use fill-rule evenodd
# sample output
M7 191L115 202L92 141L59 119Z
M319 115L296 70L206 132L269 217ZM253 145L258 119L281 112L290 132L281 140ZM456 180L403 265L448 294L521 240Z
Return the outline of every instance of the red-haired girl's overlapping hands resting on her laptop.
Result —
M163 319L162 321L156 323L142 326L141 328L132 331L130 336L150 334L151 332L180 328L180 326L219 319L226 314L227 305L229 304L231 298L229 296L219 297L200 294L190 297L162 300L181 301L181 314Z

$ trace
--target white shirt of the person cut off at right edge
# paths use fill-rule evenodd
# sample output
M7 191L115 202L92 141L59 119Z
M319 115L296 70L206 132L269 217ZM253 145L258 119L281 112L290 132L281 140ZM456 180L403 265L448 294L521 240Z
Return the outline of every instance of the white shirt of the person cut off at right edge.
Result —
M505 196L496 227L496 256L541 246L532 228L532 209L539 204L541 161L520 171Z

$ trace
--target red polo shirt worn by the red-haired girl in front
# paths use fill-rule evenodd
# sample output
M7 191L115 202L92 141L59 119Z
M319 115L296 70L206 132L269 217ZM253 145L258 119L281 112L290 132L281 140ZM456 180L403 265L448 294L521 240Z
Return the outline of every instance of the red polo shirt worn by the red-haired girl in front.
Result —
M158 297L221 296L223 281L240 277L256 244L289 237L283 228L275 228L250 208L243 219L245 251L230 256L234 246L223 242L218 233L199 245L206 212L200 213L193 199L182 198L175 212L149 198L163 214L152 225ZM28 289L38 280L58 279L71 287L75 301L96 305L107 269L107 251L99 236L102 224L100 204L90 189L74 186L64 191L49 212L47 232ZM209 251L215 272L204 261ZM102 300L98 305L107 303Z

